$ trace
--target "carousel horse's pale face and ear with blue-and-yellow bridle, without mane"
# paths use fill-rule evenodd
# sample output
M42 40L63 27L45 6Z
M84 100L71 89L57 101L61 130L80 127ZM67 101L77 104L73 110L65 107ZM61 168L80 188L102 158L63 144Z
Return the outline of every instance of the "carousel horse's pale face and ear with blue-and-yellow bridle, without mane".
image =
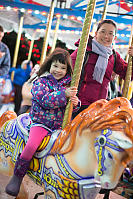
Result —
M128 160L126 150L133 149L133 142L123 132L105 129L95 139L98 168L95 178L102 188L114 188Z

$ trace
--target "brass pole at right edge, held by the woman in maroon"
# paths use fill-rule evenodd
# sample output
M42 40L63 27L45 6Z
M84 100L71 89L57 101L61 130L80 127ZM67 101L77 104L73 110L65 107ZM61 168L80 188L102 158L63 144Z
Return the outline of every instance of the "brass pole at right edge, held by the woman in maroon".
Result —
M133 37L131 36L131 45L133 45ZM126 72L126 77L124 81L124 88L123 88L123 97L128 97L128 90L129 90L129 84L131 82L131 76L132 76L132 56L128 56L128 66L127 66L127 72Z

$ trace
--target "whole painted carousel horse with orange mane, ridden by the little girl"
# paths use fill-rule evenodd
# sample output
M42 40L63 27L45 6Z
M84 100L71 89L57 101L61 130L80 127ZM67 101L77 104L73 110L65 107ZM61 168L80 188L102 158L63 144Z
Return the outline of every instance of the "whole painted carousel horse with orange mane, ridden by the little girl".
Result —
M12 118L12 119L11 119ZM28 139L28 113L0 118L0 171L10 175ZM101 99L38 147L27 174L44 187L45 198L93 199L113 189L133 160L133 109L128 99Z

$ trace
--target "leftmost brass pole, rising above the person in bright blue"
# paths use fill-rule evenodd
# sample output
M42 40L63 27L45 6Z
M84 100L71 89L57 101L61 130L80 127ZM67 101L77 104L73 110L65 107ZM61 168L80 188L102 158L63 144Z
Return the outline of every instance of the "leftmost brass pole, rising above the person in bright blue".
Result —
M19 23L19 30L17 34L17 40L16 40L16 46L15 46L15 52L14 52L14 57L13 57L13 64L12 67L16 67L17 63L17 58L18 58L18 51L19 51L19 45L20 45L20 38L21 38L21 33L22 33L22 28L23 28L23 21L24 21L24 16L21 15L20 18L20 23ZM13 81L14 79L14 71L11 74L11 80Z

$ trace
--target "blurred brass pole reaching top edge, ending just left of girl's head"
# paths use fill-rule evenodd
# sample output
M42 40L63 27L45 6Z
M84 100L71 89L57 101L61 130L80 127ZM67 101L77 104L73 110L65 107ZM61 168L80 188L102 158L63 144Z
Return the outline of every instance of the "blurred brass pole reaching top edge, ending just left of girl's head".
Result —
M49 11L49 15L48 15L48 22L47 22L47 26L46 26L46 32L45 32L45 37L44 37L44 42L43 42L43 47L42 47L40 65L42 65L42 63L46 57L48 39L49 39L49 33L50 33L50 29L51 29L53 14L54 14L54 0L52 0L52 2L51 2L50 11Z

